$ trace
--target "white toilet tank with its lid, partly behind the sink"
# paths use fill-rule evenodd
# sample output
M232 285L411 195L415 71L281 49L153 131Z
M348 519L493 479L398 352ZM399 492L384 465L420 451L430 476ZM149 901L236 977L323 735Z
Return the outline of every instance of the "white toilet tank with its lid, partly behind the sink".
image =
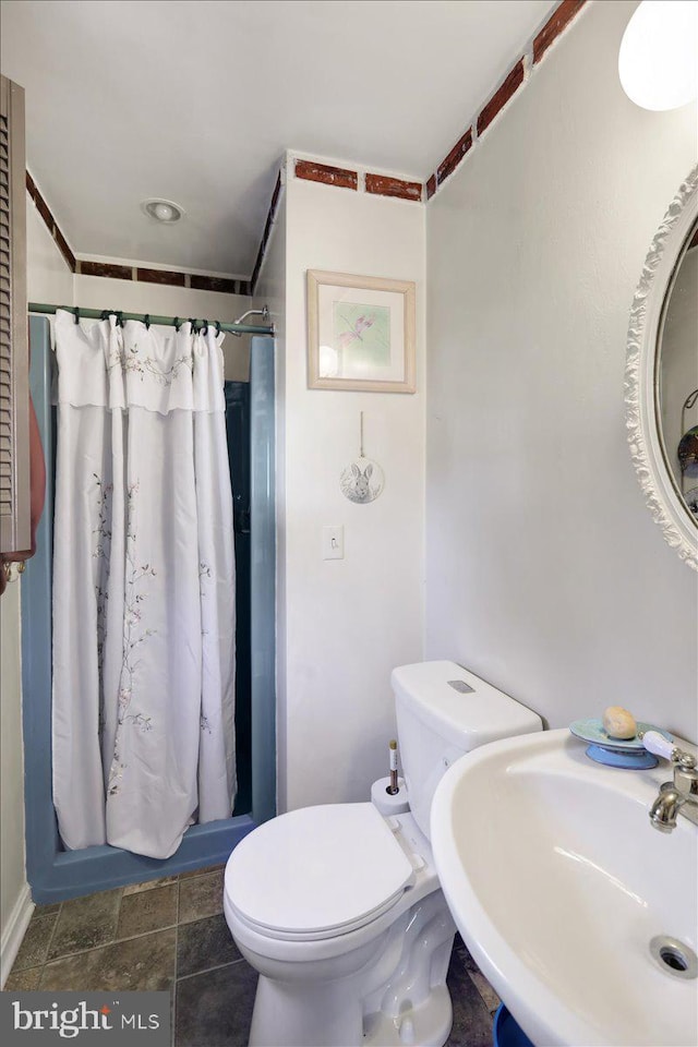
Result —
M410 809L431 839L434 792L454 760L486 742L542 731L541 718L455 662L394 669L397 732Z

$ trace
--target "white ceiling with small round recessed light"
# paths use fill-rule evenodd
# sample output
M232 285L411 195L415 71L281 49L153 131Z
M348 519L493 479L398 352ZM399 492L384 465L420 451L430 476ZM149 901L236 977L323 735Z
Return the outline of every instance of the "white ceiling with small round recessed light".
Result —
M249 277L287 148L429 178L555 5L2 0L2 72L76 254Z

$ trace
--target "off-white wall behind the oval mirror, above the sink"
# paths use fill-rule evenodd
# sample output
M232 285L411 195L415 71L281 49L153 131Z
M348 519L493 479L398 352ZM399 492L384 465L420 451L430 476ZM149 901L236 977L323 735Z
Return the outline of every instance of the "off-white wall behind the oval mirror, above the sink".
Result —
M562 726L698 737L698 586L624 428L628 312L696 109L623 94L634 2L592 3L428 207L426 655Z

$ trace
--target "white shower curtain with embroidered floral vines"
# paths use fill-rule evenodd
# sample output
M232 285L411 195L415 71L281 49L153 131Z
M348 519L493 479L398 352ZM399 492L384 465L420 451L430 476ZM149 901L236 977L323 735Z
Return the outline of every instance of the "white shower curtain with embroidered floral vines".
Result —
M57 313L53 803L71 850L166 858L232 811L221 340Z

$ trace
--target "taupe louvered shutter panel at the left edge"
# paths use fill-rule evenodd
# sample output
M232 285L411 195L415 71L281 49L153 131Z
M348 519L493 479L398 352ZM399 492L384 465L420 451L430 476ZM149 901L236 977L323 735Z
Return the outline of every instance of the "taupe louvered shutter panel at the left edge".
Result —
M28 549L24 91L0 76L0 552Z

